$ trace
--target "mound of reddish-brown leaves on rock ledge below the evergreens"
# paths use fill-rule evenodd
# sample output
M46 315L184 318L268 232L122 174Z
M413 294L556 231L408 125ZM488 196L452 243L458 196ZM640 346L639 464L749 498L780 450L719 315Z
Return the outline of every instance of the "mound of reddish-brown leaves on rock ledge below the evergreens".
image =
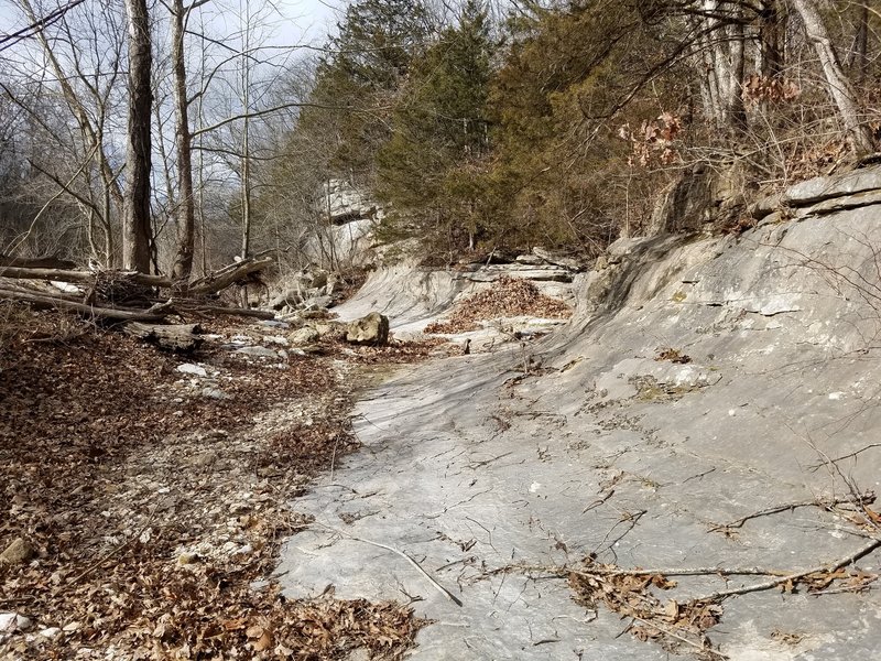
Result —
M542 294L527 280L500 278L490 289L460 301L447 321L428 324L425 333L465 333L475 330L476 322L481 319L521 315L567 318L572 310L562 301Z

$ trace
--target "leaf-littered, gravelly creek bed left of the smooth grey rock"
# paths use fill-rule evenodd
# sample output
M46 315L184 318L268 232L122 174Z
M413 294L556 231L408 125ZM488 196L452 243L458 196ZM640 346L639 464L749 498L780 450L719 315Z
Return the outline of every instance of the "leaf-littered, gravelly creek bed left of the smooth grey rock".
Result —
M181 356L0 308L0 657L401 658L406 605L285 599L273 572L292 498L357 447L354 395L436 344L272 358L229 343L275 328L186 321L210 342Z

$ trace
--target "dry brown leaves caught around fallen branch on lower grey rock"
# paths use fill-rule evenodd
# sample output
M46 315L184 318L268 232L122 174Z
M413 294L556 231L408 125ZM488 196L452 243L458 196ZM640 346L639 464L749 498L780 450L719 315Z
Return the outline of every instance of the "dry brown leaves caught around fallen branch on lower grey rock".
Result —
M594 570L594 572L591 572ZM585 567L569 573L575 600L588 608L603 604L622 618L631 618L628 630L640 640L656 640L670 648L688 641L713 653L705 631L718 624L722 614L717 604L662 602L652 588L672 589L675 581L661 574L618 572L619 567L585 561Z

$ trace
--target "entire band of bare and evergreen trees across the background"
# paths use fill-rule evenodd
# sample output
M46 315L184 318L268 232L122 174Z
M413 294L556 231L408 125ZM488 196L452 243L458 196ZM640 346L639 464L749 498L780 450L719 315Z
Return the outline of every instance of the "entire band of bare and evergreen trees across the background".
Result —
M779 188L881 130L868 1L356 0L319 48L268 46L271 3L15 4L32 25L0 42L3 249L182 281L296 256L328 231L334 180L381 203L380 240L437 263L590 254L695 167Z

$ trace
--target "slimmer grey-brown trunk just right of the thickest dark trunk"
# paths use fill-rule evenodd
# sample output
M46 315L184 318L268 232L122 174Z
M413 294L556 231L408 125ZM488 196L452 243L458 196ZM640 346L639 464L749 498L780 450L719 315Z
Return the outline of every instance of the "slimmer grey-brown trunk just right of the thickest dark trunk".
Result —
M174 0L172 10L172 62L174 66L174 109L177 142L177 256L172 275L186 282L193 272L193 253L196 245L196 213L193 198L193 137L189 130L184 61L184 33L187 11L183 0Z

